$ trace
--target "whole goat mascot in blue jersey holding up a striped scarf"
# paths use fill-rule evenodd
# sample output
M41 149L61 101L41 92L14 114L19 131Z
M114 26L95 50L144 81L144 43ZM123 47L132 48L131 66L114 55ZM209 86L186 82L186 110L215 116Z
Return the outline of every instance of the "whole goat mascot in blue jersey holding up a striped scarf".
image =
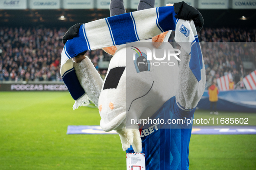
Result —
M140 0L138 11L126 13L123 0L111 0L111 17L72 26L62 40L61 76L75 99L74 109L91 100L99 109L101 128L116 130L126 153L145 155L142 170L188 170L188 120L206 81L197 37L204 21L184 2L154 4ZM172 30L180 50L166 43ZM113 55L104 81L84 55L99 48ZM153 65L163 49L175 53L168 58L172 65ZM131 121L142 119L182 123Z

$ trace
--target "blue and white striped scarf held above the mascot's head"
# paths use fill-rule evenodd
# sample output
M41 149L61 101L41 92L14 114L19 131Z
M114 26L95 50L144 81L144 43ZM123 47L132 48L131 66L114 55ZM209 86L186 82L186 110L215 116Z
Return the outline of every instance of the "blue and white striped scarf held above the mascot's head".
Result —
M159 35L162 32L180 28L180 24L190 25L190 22L188 21L176 19L174 17L175 15L176 13L174 12L173 6L162 6L112 16L81 25L78 35L66 42L62 50L61 61L62 79L67 85L68 90L75 101L83 101L83 98L86 97L85 91L81 87L75 74L71 58L76 57L85 50L96 50L103 47L126 44L126 42L145 40ZM183 27L180 31L181 36L185 36L187 38L187 40L182 39L182 41L198 41L198 39L195 40L194 36L196 35L196 32L193 34L193 40L193 38L191 39L191 30L188 30L191 27L188 28L187 26L186 28ZM193 73L198 81L200 81L200 70L202 67L200 64L201 61L199 61L200 57L198 57L198 48L194 49L194 46L191 46L191 48L189 47L188 49L184 49L187 53L197 51L197 53L191 52L191 55L194 56L193 58L196 59L194 60L195 62L192 62L193 64L191 64L191 66L194 66L194 63L198 63L196 66L199 67L196 68L196 72ZM194 68L191 70L193 71ZM77 106L74 108L77 108Z

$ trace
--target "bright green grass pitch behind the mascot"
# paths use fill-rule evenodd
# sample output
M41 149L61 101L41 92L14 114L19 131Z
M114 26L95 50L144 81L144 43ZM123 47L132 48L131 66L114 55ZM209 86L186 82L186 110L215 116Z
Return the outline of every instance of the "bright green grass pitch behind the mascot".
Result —
M0 170L126 170L118 135L66 135L100 124L97 109L73 104L68 92L0 92ZM190 170L255 170L256 135L192 135L189 159Z

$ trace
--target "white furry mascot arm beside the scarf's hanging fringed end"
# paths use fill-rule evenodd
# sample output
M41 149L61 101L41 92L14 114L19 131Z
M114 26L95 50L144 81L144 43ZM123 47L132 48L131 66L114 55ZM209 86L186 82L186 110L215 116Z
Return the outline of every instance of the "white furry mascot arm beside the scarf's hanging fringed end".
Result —
M100 91L103 85L100 74L88 57L85 57L79 63L75 62L74 67L82 88L84 88L90 100L98 107Z

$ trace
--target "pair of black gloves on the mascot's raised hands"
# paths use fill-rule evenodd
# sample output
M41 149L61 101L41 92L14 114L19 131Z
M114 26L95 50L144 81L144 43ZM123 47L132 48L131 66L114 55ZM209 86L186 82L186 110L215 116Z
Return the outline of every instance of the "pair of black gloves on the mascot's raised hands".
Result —
M175 15L175 18L184 20L193 19L196 30L198 32L201 31L204 25L204 19L198 9L195 9L193 6L188 5L184 1L174 3L173 6L174 12L178 13L177 15ZM83 23L75 24L69 28L69 30L66 32L62 39L63 44L65 44L67 40L74 38L78 34L80 25L83 25Z

